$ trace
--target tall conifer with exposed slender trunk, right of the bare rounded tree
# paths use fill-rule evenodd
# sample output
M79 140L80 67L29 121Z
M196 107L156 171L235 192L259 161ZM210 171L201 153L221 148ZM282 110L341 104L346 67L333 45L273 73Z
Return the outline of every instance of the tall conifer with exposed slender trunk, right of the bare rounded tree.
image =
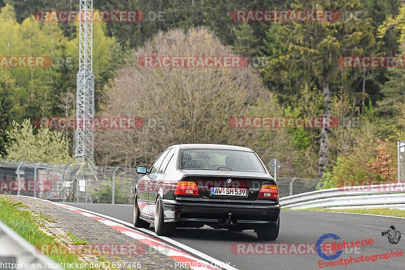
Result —
M294 10L339 10L344 12L347 7L354 10L361 8L359 1L298 1L292 5ZM321 89L323 98L323 117L331 116L331 95L343 90L350 92L351 82L347 70L338 66L338 58L355 52L358 44L365 44L372 34L371 20L342 20L332 22L287 22L282 23L276 33L282 40L287 52L262 70L265 77L272 78L276 83L287 85L295 91L300 85L308 83L312 88ZM366 47L368 48L368 47ZM279 71L279 70L282 71ZM280 88L283 88L282 86ZM328 168L328 140L331 129L322 127L319 134L318 178Z

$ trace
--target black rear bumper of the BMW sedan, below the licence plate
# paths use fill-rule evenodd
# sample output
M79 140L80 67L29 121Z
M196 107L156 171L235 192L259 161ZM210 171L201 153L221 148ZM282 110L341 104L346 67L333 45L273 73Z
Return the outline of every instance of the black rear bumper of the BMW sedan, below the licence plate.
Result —
M223 223L230 213L235 225L244 229L254 229L258 226L275 226L280 215L280 205L274 203L220 204L164 199L162 204L165 222L177 222L183 227L193 223L229 228L228 224Z

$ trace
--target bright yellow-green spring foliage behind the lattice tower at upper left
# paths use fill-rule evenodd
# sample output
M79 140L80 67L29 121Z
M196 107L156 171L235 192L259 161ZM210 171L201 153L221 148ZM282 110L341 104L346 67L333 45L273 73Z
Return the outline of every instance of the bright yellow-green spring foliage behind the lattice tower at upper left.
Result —
M18 10L27 5L21 1L15 1L15 4ZM36 4L38 8L41 7L39 3ZM31 8L25 11L29 10ZM37 10L41 9L35 9ZM49 10L49 7L45 10ZM25 13L18 15L21 14ZM52 66L47 68L2 68L0 96L3 96L6 86L8 93L13 93L8 94L12 96L8 99L13 102L8 101L5 106L11 106L8 109L10 117L18 123L24 118L30 118L32 121L37 117L65 116L66 110L68 116L74 114L73 104L69 108L61 108L61 104L68 94L75 94L78 35L71 32L70 36L65 36L65 32L59 27L63 24L41 23L34 19L33 14L24 17L19 23L13 6L7 4L0 12L1 55L45 56L51 57L53 61ZM78 27L78 23L75 23L75 26ZM104 88L104 83L114 76L117 67L124 63L125 58L125 52L120 49L116 38L106 36L106 32L106 23L93 25L93 72L97 94ZM100 95L96 95L96 101L99 97ZM98 102L96 109L97 104ZM2 122L0 128L6 129L5 125L7 126L7 123Z

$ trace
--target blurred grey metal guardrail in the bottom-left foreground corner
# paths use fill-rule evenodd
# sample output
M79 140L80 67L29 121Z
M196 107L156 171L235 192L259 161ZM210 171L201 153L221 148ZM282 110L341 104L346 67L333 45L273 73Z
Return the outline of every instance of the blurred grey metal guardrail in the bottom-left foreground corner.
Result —
M0 269L49 269L57 264L0 221Z

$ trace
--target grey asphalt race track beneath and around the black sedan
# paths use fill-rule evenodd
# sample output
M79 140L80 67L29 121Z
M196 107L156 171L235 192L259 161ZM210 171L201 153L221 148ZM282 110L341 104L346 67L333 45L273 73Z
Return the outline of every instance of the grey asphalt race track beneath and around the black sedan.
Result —
M132 223L132 205L66 204ZM381 235L381 232L387 231L390 226L394 226L396 231L405 234L405 219L401 218L283 210L280 215L280 234L276 241L260 241L253 231L236 233L227 230L215 230L207 226L200 229L180 228L170 238L220 261L230 262L230 265L238 269L405 269L405 236L402 236L397 244L390 244L388 238ZM153 231L152 228L151 226L149 230ZM312 254L299 254L306 250L303 245L301 245L301 248L298 247L297 250L288 246L287 249L282 250L283 254L273 254L274 249L265 251L265 244L297 243L297 247L299 243L305 243L305 246L309 247L308 250L311 252L310 244L315 244L324 234L335 234L341 238L341 240L332 240L330 238L325 242L337 241L337 243L342 243L342 240L355 242L373 239L373 244L356 248L356 250L348 248L336 259L343 259L343 266L330 265L328 267L325 265L319 267L319 261L331 262L331 260L322 259L316 254L315 247L312 249ZM237 244L245 244L239 246L239 253L249 251L249 253L258 252L262 254L238 254ZM249 244L253 245L249 246ZM278 246L277 250L280 250L280 248ZM391 255L391 251L395 252L396 250L398 252L402 251L403 256L388 259L381 256L374 262L371 260L361 261L344 266L344 260L350 259L350 256L356 258L362 255L363 259L365 259L366 256L383 253L390 253ZM313 254L313 251L315 251L315 254Z

